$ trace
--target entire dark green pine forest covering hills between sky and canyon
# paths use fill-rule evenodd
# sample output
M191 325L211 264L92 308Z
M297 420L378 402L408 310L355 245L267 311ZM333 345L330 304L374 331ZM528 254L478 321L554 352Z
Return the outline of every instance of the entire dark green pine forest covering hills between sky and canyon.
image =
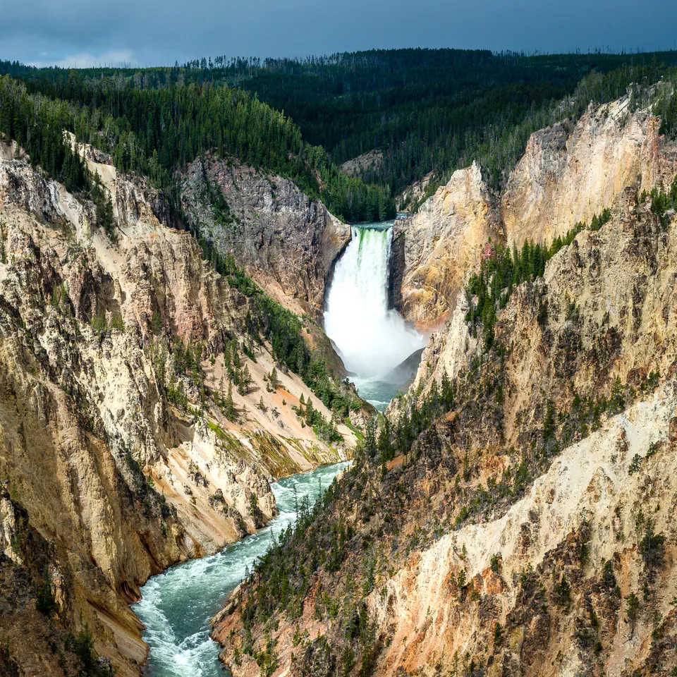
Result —
M432 193L473 159L501 188L533 131L575 118L591 100L615 99L631 83L652 85L676 64L673 51L401 49L264 61L205 57L143 70L0 62L0 73L23 80L28 92L87 109L78 133L104 128L116 164L126 169L169 176L174 164L215 148L293 178L312 197L322 193L345 219L369 221L391 216L392 196L410 183L432 172ZM675 115L666 120L673 126ZM374 149L384 159L359 179L336 169ZM169 185L166 177L160 182Z

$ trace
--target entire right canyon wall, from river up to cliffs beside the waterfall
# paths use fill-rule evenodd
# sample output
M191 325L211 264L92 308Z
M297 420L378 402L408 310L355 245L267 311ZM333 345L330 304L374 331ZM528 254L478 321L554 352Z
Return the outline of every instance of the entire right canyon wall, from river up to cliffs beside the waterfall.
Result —
M258 675L263 655L271 674L294 677L674 673L675 146L656 134L660 120L614 117L618 106L588 111L556 162L534 156L551 130L533 135L508 179L524 221L505 202L462 212L458 195L480 176L471 168L452 177L455 202L439 189L404 222L417 267L405 269L403 300L420 272L411 293L431 301L418 321L449 315L337 498L214 618L234 676ZM601 164L577 141L591 121L606 125ZM627 135L647 155L609 162ZM519 178L535 157L544 169L529 176L548 173L544 184ZM439 220L413 228L432 209ZM474 258L445 262L468 231L480 233ZM527 240L504 283L497 245ZM487 308L492 281L487 334L470 311Z

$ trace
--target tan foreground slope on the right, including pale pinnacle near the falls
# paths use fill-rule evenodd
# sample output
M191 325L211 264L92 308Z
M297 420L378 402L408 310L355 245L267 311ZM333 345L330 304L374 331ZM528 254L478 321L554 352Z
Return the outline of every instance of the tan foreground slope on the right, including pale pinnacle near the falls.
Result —
M393 408L420 417L446 372L451 410L385 467L362 461L289 546L354 534L340 565L303 570L300 613L248 628L254 652L277 647L277 674L671 673L677 218L661 223L642 185L611 191L610 221L513 291L488 353L461 303L432 335ZM258 669L242 628L238 611L215 619L236 677Z

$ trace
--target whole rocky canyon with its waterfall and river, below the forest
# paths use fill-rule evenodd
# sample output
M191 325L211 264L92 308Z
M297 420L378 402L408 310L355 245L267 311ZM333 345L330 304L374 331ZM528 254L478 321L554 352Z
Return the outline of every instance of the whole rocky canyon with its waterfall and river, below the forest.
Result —
M71 133L68 190L1 138L0 673L138 676L130 604L200 560L235 677L673 675L677 143L636 95L392 226L227 152L172 201ZM538 272L475 317L506 252Z

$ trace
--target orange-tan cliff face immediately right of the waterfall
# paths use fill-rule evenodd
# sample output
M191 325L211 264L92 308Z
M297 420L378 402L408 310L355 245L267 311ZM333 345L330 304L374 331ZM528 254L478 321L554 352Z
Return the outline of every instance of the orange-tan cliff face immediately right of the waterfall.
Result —
M502 238L495 200L480 166L453 173L409 219L395 222L394 263L401 267L395 305L405 319L425 329L456 303L465 273L480 260L490 238Z

